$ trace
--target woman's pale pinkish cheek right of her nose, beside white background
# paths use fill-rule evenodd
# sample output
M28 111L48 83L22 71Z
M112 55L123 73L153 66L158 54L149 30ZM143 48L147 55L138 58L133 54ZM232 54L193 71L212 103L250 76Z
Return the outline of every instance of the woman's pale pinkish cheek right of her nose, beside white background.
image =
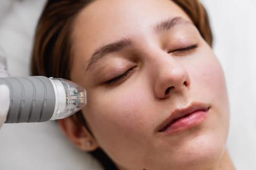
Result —
M193 95L206 102L221 101L228 107L227 88L223 69L209 47L200 51L194 65L189 65ZM222 105L222 104L220 104Z

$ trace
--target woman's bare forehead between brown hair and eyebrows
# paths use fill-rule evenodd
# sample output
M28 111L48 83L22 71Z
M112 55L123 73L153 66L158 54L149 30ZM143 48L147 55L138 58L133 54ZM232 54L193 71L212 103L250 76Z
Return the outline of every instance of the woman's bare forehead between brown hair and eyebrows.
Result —
M159 21L190 18L172 0L95 0L77 16L72 33L75 49L83 54L124 37L147 36Z

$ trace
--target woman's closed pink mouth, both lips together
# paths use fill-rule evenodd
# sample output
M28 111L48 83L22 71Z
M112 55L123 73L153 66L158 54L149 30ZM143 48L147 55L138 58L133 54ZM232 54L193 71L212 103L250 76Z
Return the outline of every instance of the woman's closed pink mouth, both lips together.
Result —
M210 104L200 102L177 108L161 123L158 132L172 135L197 126L207 118L210 108Z

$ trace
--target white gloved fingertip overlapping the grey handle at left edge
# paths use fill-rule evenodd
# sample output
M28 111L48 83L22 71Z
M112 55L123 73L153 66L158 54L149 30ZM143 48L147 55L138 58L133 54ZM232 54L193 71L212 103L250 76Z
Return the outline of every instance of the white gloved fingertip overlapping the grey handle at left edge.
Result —
M10 107L10 89L7 85L0 85L0 127L4 123Z

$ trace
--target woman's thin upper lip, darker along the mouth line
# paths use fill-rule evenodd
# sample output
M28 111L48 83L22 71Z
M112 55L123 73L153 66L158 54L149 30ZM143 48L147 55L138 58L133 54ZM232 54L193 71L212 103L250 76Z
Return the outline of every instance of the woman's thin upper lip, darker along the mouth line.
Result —
M165 119L159 126L158 132L164 131L170 124L175 120L180 119L186 115L190 115L196 111L208 111L210 109L210 104L191 102L188 105L175 109L171 115Z

